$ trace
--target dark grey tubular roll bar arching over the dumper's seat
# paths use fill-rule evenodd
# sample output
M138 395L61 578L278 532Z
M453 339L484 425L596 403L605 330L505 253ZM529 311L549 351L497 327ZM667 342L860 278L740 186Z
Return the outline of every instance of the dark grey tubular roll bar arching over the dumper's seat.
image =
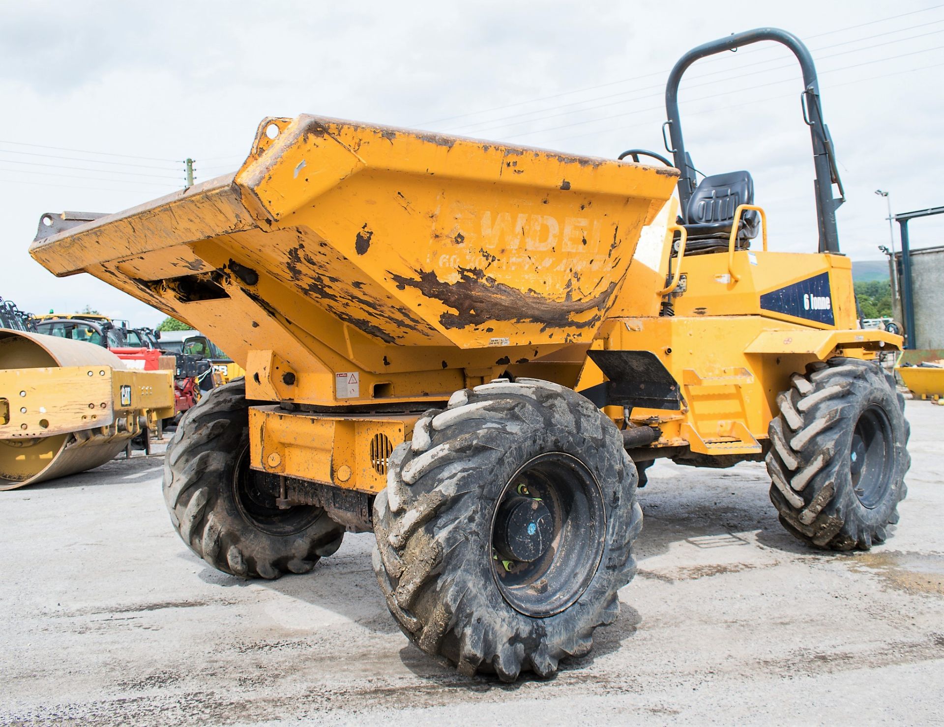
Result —
M835 150L833 139L830 137L829 127L823 123L822 107L819 105L819 86L817 69L813 57L803 42L792 33L787 33L775 27L759 27L746 30L743 33L734 33L727 38L703 43L697 48L688 51L672 68L668 74L666 84L666 115L668 121L663 124L665 136L668 127L671 148L666 143L666 151L675 160L675 166L682 172L679 177L679 198L683 210L688 207L688 200L695 191L695 167L692 159L685 152L682 138L682 123L679 120L679 83L688 67L700 58L714 56L723 51L735 50L743 45L760 41L775 41L783 43L800 61L803 72L803 92L801 107L803 121L810 127L810 136L813 139L813 165L816 170L814 180L817 196L817 223L819 228L819 252L838 253L839 234L835 224L835 210L846 201L845 190L836 169ZM839 190L839 196L833 196L833 185Z

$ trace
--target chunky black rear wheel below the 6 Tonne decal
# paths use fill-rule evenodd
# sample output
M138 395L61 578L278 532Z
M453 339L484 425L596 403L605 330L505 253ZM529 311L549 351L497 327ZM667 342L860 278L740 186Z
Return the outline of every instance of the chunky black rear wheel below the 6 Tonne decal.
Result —
M794 536L834 551L889 536L907 492L910 427L892 376L836 357L795 373L770 422L770 500Z

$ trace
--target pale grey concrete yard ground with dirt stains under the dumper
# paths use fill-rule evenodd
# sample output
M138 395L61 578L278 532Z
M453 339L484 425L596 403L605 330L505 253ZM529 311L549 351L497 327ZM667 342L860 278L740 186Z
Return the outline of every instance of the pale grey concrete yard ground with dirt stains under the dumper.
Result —
M813 551L762 464L660 462L639 572L588 656L465 678L389 616L373 536L246 582L172 529L160 458L0 493L0 724L944 724L944 407L908 402L894 537Z

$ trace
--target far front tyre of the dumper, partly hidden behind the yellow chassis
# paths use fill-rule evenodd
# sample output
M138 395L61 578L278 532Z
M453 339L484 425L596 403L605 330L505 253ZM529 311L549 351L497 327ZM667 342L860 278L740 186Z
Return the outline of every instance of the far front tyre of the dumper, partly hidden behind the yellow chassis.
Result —
M311 506L280 510L249 469L243 379L189 409L164 458L164 501L177 533L213 568L244 578L307 573L344 529Z

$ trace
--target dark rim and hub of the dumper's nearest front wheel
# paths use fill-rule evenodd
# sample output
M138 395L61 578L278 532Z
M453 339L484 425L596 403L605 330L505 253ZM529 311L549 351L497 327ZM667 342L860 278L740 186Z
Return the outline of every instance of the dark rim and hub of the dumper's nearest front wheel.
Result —
M576 457L534 457L508 481L492 517L492 573L502 597L544 618L576 603L597 572L606 539L603 498Z

